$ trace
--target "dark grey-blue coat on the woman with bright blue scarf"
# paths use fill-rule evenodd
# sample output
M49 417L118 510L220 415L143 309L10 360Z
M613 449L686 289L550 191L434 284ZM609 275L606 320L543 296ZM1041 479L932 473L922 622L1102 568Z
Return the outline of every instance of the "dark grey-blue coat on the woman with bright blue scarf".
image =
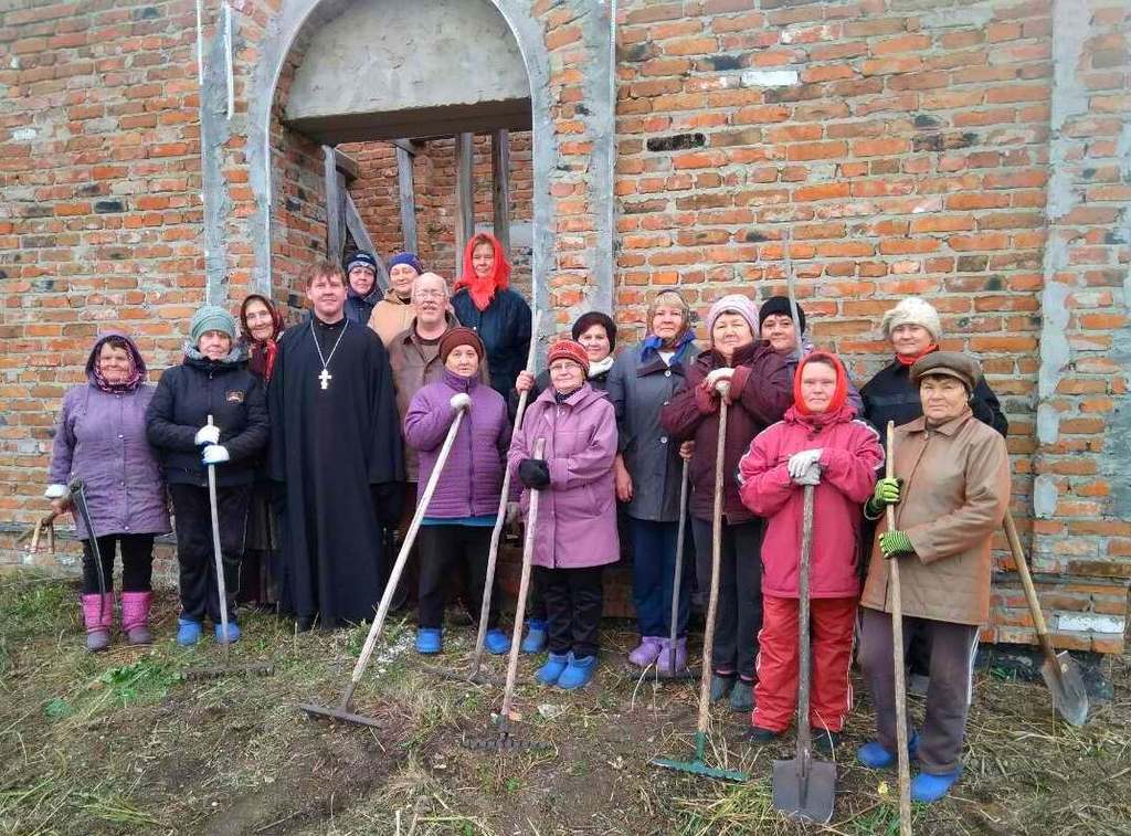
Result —
M608 374L608 399L616 411L616 430L624 467L632 477L625 512L636 519L674 523L680 518L680 446L661 426L659 413L687 382L677 359L694 355L688 344L668 365L658 352L642 356L640 346L621 352Z

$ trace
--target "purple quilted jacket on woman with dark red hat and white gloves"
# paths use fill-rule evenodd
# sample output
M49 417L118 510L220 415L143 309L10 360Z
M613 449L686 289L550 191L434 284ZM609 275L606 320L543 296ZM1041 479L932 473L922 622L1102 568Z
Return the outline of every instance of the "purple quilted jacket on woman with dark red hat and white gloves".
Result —
M413 396L405 413L405 443L420 455L417 501L424 495L440 448L456 411L451 397L465 393L472 405L464 413L425 516L446 519L494 515L499 511L502 472L510 445L510 421L502 396L482 381L448 369L434 383Z

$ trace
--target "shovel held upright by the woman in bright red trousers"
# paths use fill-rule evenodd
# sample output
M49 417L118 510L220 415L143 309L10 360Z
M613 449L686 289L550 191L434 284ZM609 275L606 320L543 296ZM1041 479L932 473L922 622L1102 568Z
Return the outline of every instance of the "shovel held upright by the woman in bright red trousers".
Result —
M837 767L828 761L813 760L809 727L809 558L813 545L813 485L805 485L802 526L801 566L797 569L797 757L774 761L774 807L791 818L827 825L832 820Z

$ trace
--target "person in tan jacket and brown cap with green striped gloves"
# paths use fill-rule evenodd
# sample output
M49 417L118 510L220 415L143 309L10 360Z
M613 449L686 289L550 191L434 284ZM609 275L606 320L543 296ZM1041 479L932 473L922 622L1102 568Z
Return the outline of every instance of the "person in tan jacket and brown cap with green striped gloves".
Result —
M905 629L931 637L926 718L918 734L908 730L908 745L922 767L912 799L932 802L961 772L978 628L990 614L990 543L1009 506L1010 472L1004 440L970 411L970 393L982 379L976 360L935 352L910 374L923 417L896 429L896 479L880 480L865 507L865 515L877 518L896 505L896 527L880 523L861 600L860 658L875 704L878 740L861 747L857 757L872 768L896 761L888 561L899 560Z

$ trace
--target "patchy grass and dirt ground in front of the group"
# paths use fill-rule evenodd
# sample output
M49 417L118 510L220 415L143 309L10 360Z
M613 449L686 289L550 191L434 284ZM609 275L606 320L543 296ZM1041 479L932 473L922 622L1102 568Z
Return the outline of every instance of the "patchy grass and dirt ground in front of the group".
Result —
M788 821L770 804L775 758L792 738L733 742L745 716L713 713L713 765L745 770L720 784L649 765L690 758L693 683L632 673L627 623L610 622L596 681L567 695L519 667L519 734L536 753L461 745L489 734L498 686L423 673L412 622L387 627L357 710L381 729L331 726L300 701L333 703L364 629L294 635L247 615L233 661L271 661L275 675L185 681L222 661L210 641L178 648L175 600L162 593L157 644L83 647L75 587L0 576L0 831L14 834L706 834L897 833L895 775L855 766L871 706L857 707L837 752L837 802L827 828ZM441 664L461 667L470 626L451 623ZM1115 699L1073 730L1054 718L1039 683L981 671L961 783L916 807L918 834L1131 834L1131 658L1107 660ZM504 662L491 658L500 675ZM856 681L858 684L858 680ZM922 706L913 701L913 712Z

